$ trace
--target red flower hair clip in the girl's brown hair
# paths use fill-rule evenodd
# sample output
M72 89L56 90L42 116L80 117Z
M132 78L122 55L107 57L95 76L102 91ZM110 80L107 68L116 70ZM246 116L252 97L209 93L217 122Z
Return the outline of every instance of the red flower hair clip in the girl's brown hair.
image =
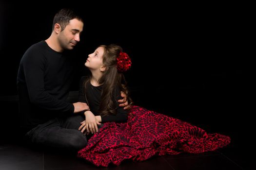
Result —
M117 60L117 68L119 72L127 71L132 66L131 58L125 52L120 52Z

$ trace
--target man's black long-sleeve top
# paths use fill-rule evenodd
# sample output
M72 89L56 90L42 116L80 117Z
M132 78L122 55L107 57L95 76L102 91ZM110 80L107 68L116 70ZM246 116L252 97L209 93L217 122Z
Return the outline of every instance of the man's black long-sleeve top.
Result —
M21 125L34 127L74 112L73 104L65 102L73 81L73 65L69 51L54 51L45 41L24 53L17 77Z

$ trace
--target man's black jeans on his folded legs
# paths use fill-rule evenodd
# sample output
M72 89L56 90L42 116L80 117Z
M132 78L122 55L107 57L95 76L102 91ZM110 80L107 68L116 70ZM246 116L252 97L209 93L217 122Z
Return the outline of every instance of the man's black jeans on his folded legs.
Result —
M51 119L30 130L26 136L34 144L78 151L87 144L86 135L78 130L83 120L81 115Z

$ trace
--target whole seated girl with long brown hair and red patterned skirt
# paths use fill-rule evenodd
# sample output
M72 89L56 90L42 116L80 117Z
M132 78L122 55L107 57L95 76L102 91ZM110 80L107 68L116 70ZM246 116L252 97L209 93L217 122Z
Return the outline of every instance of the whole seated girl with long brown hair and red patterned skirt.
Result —
M142 161L154 155L202 153L230 143L230 137L204 130L166 115L132 106L129 114L118 107L120 91L128 92L122 72L131 67L129 56L117 45L99 46L85 66L80 101L87 102L80 130L95 133L78 153L97 166L119 165L125 159ZM98 125L104 125L98 130Z

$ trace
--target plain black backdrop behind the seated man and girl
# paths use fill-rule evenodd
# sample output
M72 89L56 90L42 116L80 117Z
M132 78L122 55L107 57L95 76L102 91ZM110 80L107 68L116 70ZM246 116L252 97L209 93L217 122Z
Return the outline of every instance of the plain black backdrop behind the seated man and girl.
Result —
M210 132L250 135L252 11L238 3L1 1L1 121L16 122L17 104L4 99L17 95L23 53L50 36L52 19L62 7L73 8L85 20L75 49L81 70L77 81L87 74L83 64L89 53L98 45L116 43L132 58L125 76L135 105ZM78 90L77 83L72 90Z

